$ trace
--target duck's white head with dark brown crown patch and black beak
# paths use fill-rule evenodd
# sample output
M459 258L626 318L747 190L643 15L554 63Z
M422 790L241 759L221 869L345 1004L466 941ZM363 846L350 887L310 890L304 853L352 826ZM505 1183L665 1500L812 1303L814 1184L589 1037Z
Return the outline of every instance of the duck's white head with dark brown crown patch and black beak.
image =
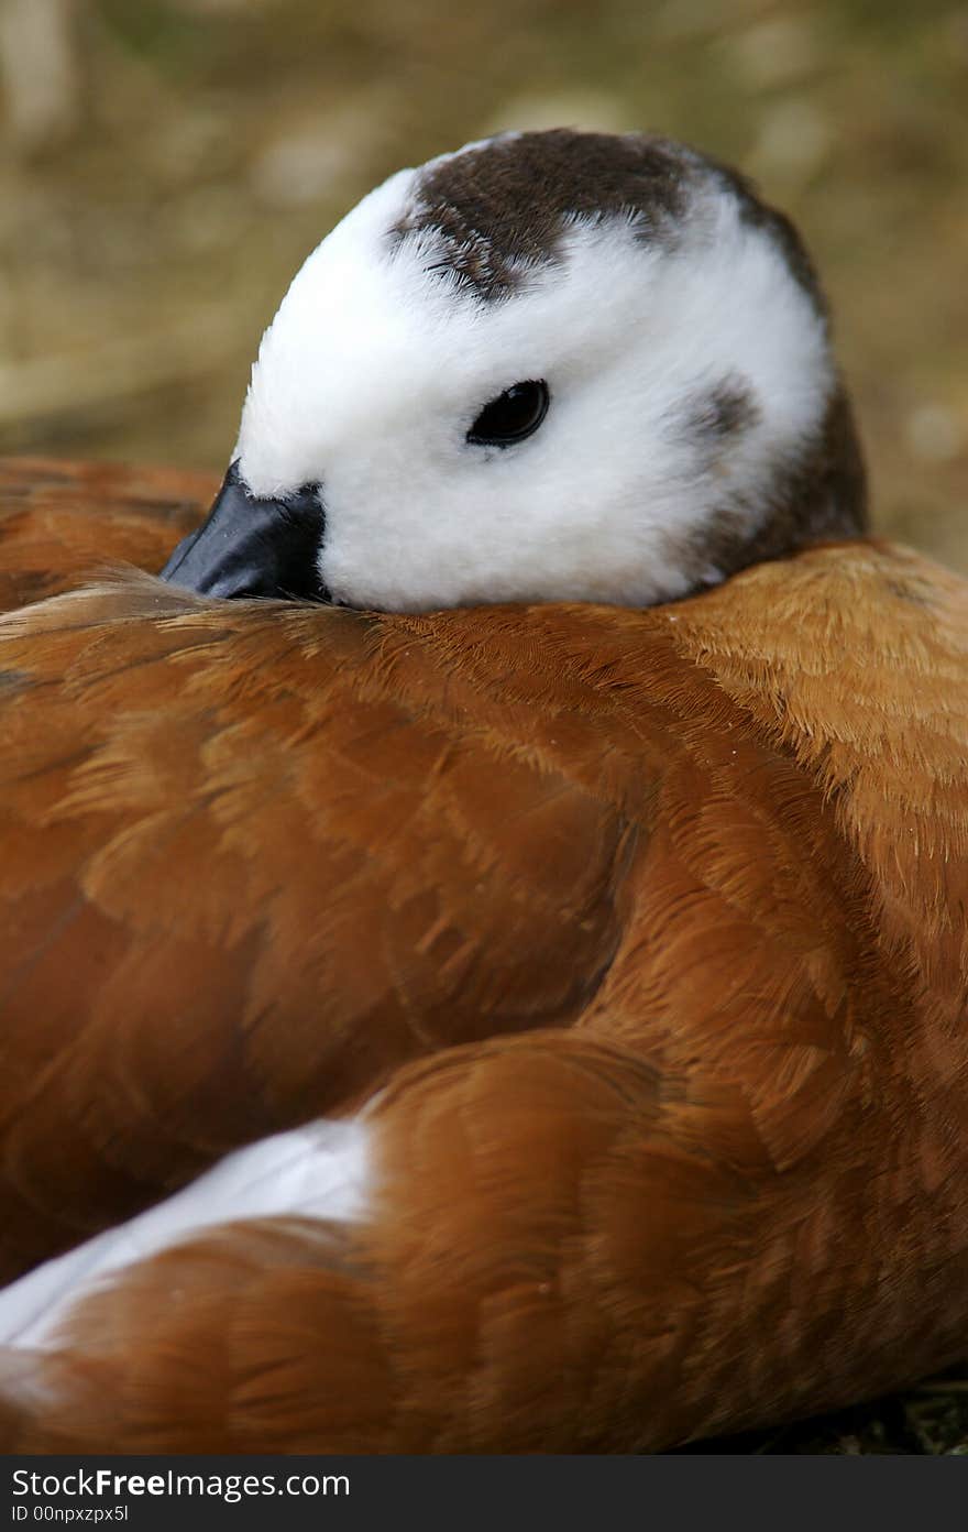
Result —
M211 522L165 573L392 611L651 604L864 521L789 222L682 146L567 130L403 170L338 224L262 340L224 495L228 576Z

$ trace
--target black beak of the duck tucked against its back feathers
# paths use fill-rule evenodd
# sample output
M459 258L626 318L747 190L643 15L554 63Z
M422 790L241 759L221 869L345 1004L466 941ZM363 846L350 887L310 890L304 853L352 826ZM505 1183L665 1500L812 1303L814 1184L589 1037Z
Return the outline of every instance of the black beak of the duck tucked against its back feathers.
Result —
M161 578L202 596L328 601L317 568L322 542L319 484L305 484L285 499L262 499L233 463L208 519L182 538Z

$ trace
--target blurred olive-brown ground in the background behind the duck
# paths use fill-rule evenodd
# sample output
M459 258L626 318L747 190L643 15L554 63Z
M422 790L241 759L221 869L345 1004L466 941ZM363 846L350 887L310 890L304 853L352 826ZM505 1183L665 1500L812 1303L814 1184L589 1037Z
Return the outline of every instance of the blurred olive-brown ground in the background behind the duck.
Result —
M0 450L224 467L305 254L501 127L751 172L833 300L879 529L968 570L968 5L0 0Z

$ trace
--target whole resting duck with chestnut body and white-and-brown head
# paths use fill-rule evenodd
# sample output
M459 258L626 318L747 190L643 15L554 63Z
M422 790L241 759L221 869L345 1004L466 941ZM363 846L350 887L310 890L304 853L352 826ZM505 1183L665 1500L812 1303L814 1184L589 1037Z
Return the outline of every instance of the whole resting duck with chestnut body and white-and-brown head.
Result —
M309 257L199 527L6 472L75 533L0 555L5 1449L662 1451L960 1357L968 590L865 535L781 214L475 144ZM115 521L164 578L75 588Z

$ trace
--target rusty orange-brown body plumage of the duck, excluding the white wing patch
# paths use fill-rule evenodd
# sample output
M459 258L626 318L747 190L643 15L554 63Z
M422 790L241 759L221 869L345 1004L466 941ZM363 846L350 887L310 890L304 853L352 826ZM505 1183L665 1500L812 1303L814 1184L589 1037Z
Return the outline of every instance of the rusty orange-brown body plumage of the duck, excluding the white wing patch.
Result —
M204 492L58 475L5 469L11 608L156 567ZM0 666L5 1279L280 1128L366 1102L374 1144L361 1221L199 1233L8 1351L5 1446L657 1449L963 1350L962 581L847 542L372 616L130 574Z

